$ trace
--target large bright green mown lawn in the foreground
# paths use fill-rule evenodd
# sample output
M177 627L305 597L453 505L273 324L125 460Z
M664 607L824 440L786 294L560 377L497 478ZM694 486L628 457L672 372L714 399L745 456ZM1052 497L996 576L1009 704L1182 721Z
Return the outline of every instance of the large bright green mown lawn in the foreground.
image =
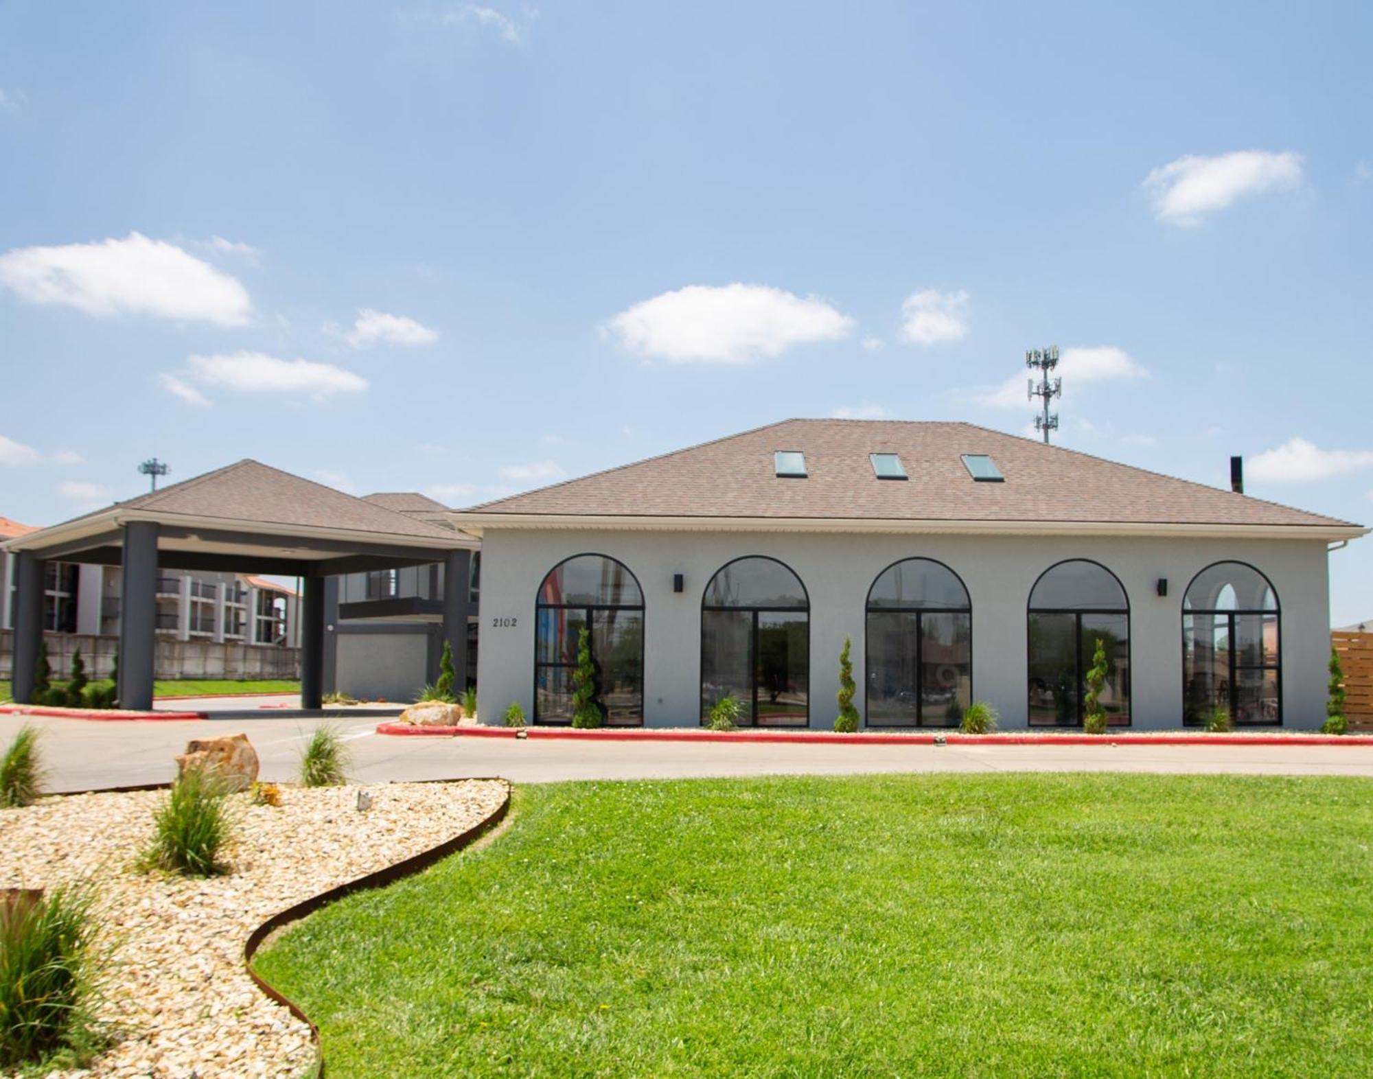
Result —
M288 929L334 1076L1373 1074L1373 782L560 784Z

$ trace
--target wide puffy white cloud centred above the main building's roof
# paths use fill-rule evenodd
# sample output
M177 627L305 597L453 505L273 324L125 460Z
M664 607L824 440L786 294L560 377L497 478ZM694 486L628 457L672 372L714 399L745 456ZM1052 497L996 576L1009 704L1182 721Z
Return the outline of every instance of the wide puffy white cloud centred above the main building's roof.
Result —
M608 320L603 332L638 356L671 362L747 364L794 345L838 340L854 320L817 297L765 284L691 284L641 301Z

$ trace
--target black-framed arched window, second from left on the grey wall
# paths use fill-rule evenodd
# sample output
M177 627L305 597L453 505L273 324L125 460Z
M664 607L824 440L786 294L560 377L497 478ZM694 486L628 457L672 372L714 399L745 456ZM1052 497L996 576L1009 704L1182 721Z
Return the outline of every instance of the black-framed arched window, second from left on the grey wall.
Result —
M740 723L810 722L810 599L776 559L736 559L706 586L700 610L700 711L726 693Z

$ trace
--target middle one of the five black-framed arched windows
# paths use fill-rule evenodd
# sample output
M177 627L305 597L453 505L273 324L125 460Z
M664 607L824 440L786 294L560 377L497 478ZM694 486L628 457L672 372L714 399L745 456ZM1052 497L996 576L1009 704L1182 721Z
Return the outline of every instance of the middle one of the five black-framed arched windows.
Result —
M972 700L972 601L932 559L883 570L868 590L868 726L957 726Z

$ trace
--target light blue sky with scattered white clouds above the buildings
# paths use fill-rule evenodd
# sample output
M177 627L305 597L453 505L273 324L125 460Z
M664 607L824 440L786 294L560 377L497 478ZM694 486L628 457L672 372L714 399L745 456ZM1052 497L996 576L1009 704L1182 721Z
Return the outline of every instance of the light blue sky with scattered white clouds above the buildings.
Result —
M0 4L0 515L788 416L1373 518L1368 4ZM1373 540L1332 556L1373 618Z

